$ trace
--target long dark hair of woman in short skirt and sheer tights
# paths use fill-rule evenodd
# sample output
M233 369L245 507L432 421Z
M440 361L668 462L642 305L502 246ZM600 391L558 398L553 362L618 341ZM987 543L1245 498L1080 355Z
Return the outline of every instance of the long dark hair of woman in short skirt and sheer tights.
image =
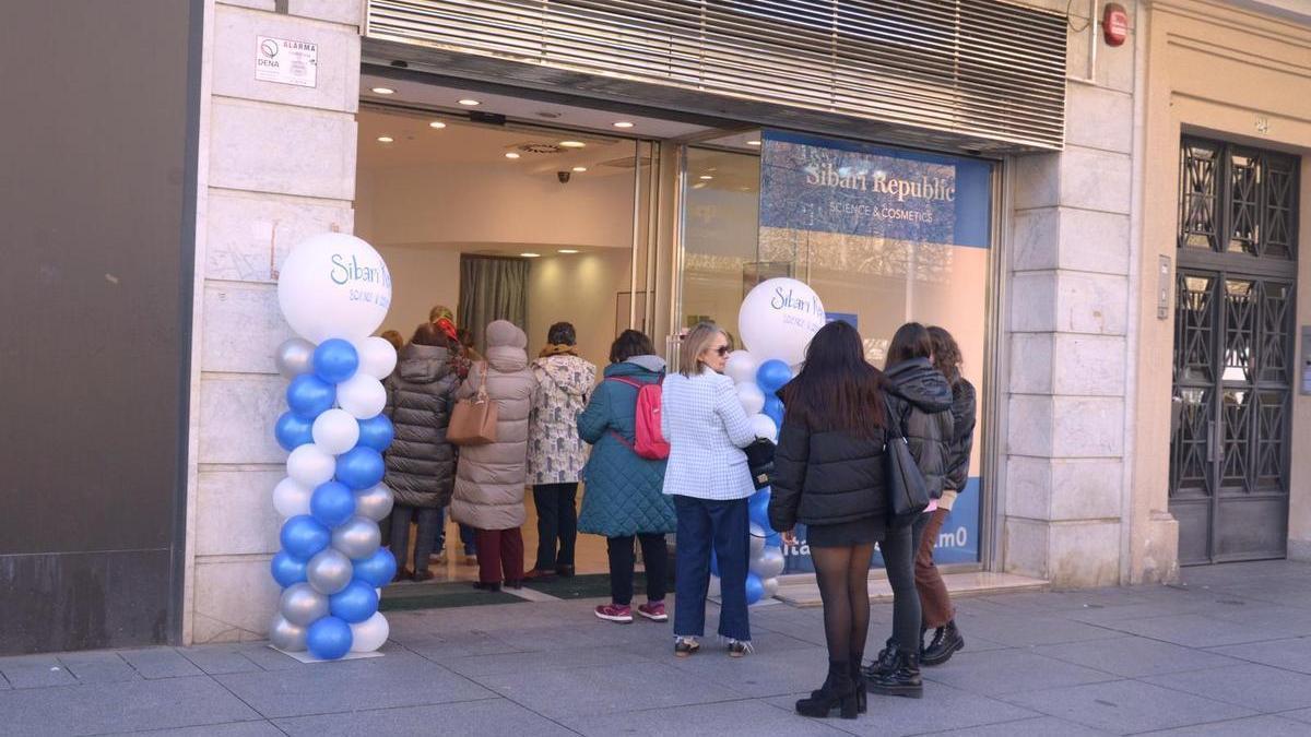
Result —
M882 371L865 361L856 328L840 320L815 333L801 374L783 387L787 420L868 438L886 425Z

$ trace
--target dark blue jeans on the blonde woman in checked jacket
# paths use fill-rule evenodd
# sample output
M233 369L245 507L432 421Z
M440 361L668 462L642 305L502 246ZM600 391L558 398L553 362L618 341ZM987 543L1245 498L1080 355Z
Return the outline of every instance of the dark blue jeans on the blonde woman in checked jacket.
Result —
M751 555L747 501L674 497L678 513L678 557L674 591L674 635L705 635L705 593L711 584L711 549L720 568L720 636L747 643L746 573Z

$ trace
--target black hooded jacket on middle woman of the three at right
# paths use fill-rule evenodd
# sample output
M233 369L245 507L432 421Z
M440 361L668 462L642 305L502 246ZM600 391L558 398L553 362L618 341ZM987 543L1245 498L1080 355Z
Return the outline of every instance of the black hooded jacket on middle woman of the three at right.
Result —
M952 387L927 358L902 361L885 374L893 383L888 408L928 481L928 494L941 498L950 460Z

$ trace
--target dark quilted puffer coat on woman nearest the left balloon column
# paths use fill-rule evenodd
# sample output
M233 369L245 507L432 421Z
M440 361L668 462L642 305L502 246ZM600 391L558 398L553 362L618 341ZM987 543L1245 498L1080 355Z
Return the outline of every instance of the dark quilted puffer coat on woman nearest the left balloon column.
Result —
M442 508L455 488L455 446L446 442L451 405L460 379L451 351L427 345L401 349L387 379L385 413L396 425L387 448L385 484L396 504Z

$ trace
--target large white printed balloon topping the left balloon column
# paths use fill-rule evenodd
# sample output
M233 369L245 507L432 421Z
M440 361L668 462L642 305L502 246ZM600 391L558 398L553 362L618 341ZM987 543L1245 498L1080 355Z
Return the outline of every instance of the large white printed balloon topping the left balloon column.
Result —
M299 243L282 262L278 304L296 333L316 344L363 338L387 316L392 275L374 247L346 233Z

